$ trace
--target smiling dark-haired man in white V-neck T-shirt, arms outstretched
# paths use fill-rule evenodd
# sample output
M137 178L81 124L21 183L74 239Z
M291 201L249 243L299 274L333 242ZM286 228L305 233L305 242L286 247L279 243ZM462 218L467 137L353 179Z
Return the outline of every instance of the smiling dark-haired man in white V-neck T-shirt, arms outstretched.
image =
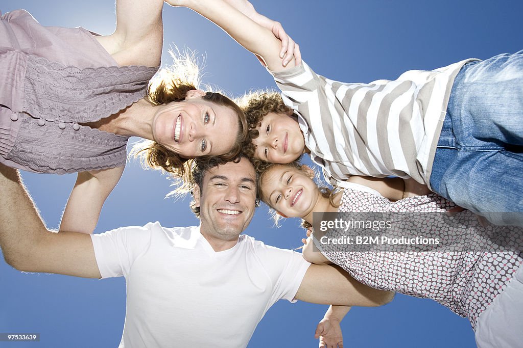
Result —
M251 221L256 174L246 158L201 162L193 208L199 227L160 223L102 234L51 233L19 184L0 165L0 246L18 270L87 278L126 278L120 347L244 347L279 299L376 306L391 293L371 289L332 266L240 235ZM16 206L17 209L9 209Z

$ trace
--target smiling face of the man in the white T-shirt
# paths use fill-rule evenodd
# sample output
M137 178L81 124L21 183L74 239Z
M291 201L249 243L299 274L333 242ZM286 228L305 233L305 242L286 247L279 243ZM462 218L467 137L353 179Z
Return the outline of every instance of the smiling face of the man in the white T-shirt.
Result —
M201 234L211 243L237 241L254 215L256 173L247 159L206 171L194 190Z

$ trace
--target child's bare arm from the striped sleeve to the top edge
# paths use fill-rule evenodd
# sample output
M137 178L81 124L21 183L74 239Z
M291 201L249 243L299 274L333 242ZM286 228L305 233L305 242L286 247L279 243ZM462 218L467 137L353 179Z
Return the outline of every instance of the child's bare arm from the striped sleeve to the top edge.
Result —
M263 59L273 71L295 66L282 67L281 41L267 28L260 26L246 15L223 0L167 0L173 6L186 6L214 22L248 51ZM285 63L285 62L284 62Z

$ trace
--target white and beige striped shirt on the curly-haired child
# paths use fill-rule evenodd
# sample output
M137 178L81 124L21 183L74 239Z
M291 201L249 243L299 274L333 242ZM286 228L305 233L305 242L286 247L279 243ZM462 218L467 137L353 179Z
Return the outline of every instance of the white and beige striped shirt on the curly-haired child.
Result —
M329 80L304 62L269 72L298 115L312 161L332 183L366 175L428 184L452 83L471 60L371 83Z

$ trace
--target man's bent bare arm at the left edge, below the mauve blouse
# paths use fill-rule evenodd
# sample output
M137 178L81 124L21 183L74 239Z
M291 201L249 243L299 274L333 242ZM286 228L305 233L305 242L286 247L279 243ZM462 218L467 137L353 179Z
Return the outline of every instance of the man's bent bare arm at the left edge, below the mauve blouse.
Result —
M49 231L17 170L0 164L0 247L9 265L27 272L100 278L91 237Z

